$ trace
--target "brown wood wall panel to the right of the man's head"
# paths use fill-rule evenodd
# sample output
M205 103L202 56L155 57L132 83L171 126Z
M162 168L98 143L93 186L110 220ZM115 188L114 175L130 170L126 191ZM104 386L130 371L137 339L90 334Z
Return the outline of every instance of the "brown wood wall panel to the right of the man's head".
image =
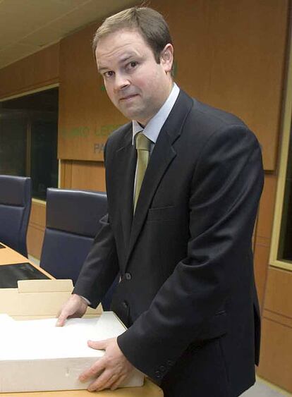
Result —
M174 38L178 83L255 132L264 169L276 168L288 0L152 0Z

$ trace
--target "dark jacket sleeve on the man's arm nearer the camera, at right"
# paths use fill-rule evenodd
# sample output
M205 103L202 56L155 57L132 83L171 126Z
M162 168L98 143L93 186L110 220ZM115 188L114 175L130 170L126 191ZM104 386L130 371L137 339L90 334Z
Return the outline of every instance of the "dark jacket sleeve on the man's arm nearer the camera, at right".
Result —
M118 337L128 360L153 379L159 366L170 369L200 337L240 282L241 266L247 256L250 260L262 185L261 150L253 133L240 125L213 133L185 193L190 214L188 255L150 308Z

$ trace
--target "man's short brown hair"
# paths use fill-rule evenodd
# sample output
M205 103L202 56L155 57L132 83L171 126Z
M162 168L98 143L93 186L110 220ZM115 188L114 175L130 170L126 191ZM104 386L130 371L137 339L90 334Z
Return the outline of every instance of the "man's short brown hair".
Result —
M162 14L149 7L135 6L104 20L93 38L92 49L94 54L99 39L121 29L138 30L152 49L157 63L160 63L160 55L166 44L172 44L169 27Z

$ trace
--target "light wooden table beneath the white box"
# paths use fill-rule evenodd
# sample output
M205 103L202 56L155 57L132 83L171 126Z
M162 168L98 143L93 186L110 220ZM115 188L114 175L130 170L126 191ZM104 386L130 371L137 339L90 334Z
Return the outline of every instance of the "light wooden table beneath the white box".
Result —
M4 244L2 244L4 245ZM16 264L29 262L44 274L47 274L50 279L54 279L47 271L32 263L28 258L23 257L18 252L8 248L0 248L0 265L2 264ZM9 313L8 313L9 314ZM16 379L17 381L17 379ZM132 387L117 389L115 391L104 390L95 393L100 397L163 397L163 391L150 379L145 379L145 384L142 387ZM0 393L1 397L90 397L92 393L87 390L70 390L70 391L37 391L32 393Z

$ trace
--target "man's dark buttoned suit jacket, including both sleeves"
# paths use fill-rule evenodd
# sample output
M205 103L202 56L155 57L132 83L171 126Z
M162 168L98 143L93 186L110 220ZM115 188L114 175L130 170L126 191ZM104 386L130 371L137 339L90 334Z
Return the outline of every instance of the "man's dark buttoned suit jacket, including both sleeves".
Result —
M189 396L238 396L254 383L260 343L260 145L236 116L181 91L133 217L135 164L128 123L107 142L109 215L74 292L96 306L120 271L112 309L129 327L118 337L128 360L166 390L189 382Z

